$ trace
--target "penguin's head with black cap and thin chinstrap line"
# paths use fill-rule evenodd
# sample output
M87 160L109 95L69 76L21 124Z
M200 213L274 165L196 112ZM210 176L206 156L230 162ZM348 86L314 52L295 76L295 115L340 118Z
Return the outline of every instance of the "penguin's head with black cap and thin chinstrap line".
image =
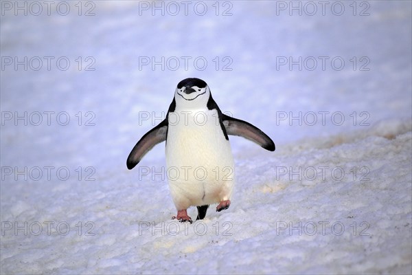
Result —
M205 108L210 97L209 86L199 78L181 80L174 91L177 107Z

